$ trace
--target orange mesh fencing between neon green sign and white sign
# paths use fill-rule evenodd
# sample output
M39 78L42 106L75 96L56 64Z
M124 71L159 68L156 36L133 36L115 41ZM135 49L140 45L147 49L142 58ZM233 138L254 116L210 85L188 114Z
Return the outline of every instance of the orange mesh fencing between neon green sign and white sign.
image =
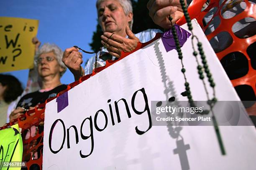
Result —
M27 162L26 169L42 170L43 163L43 123L44 123L45 103L40 104L33 110L28 110L26 114L21 115L18 119L11 121L0 130L9 128L10 125L18 123L22 128L21 135L23 139L23 161ZM31 133L32 132L32 133ZM26 137L25 137L26 136Z

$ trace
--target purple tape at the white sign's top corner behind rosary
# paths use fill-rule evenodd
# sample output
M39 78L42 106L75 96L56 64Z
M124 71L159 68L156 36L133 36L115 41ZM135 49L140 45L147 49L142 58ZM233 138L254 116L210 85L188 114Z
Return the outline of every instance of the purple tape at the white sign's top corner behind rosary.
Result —
M174 28L177 32L179 45L180 47L182 47L191 34L177 24L174 25ZM164 44L166 52L171 51L173 49L177 50L171 30L161 33L161 39Z

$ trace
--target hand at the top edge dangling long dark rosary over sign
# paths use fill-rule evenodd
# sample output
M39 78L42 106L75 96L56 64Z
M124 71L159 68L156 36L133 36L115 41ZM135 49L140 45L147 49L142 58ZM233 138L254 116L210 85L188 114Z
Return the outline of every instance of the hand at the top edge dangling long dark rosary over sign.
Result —
M187 5L187 0L184 1ZM147 7L149 16L154 23L164 29L170 29L172 27L169 16L173 18L172 24L174 24L184 15L179 0L149 0Z

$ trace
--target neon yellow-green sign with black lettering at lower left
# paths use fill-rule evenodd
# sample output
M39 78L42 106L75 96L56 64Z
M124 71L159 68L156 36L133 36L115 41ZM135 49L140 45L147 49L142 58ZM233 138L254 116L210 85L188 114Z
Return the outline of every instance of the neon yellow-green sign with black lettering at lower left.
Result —
M21 162L22 153L23 143L18 124L0 130L0 170L18 170L24 166Z

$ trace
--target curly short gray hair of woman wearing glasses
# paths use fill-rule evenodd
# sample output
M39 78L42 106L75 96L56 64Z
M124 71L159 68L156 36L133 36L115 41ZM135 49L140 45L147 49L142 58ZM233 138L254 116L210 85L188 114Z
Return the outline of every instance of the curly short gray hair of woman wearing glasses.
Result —
M45 43L42 45L38 51L36 52L35 58L34 58L34 63L36 65L36 61L38 60L38 57L40 57L41 54L48 53L48 52L54 52L56 55L56 60L59 63L60 67L64 68L62 72L60 72L60 76L64 74L64 72L67 70L66 65L62 62L62 56L63 56L63 51L61 50L60 47L58 47L55 44L49 44Z

